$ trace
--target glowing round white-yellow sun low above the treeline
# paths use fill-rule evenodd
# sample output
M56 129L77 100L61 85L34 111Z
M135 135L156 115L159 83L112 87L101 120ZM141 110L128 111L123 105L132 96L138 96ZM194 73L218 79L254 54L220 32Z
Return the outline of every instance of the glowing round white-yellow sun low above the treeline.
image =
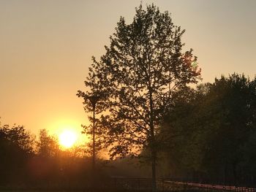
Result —
M59 144L63 147L72 147L78 140L78 134L72 130L64 130L59 134Z

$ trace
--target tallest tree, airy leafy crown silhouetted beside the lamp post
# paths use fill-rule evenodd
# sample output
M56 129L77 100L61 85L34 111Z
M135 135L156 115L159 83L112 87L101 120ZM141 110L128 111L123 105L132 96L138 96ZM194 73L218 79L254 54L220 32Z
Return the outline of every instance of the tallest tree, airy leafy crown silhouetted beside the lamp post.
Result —
M85 81L89 91L78 91L89 111L86 98L104 93L97 106L108 111L100 122L112 157L150 150L154 188L162 116L173 91L200 80L192 50L182 53L182 34L168 12L161 13L154 4L145 10L140 4L131 24L120 18L100 61L93 58Z

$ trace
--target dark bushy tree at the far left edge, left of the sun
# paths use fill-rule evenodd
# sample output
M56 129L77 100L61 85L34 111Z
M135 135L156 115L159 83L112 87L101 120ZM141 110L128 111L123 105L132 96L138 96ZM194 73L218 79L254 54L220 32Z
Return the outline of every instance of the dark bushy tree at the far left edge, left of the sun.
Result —
M34 136L23 126L0 123L0 185L23 184L26 164L34 154Z

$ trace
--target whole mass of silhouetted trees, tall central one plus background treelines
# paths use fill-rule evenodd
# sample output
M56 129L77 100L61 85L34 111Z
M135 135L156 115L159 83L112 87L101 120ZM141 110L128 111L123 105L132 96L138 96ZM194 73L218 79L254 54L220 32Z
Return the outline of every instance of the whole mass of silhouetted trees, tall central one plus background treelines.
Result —
M91 188L110 177L152 177L153 189L166 177L255 186L256 79L190 88L200 69L192 50L182 52L183 34L153 4L136 8L131 24L120 18L105 55L93 58L88 91L78 91L98 115L96 152L110 161L97 158L93 170L91 145L64 150L46 129L37 139L0 123L0 187Z

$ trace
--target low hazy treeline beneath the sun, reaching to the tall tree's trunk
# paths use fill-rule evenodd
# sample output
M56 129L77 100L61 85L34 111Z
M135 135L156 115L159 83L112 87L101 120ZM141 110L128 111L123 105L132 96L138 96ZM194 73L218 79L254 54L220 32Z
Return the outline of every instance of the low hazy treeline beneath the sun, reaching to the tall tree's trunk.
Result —
M90 144L62 149L58 139L45 129L36 137L23 126L0 123L0 191L91 188L105 185L110 177L150 176L147 167L140 169L139 161L130 158L106 161L98 157L93 173L89 147Z

